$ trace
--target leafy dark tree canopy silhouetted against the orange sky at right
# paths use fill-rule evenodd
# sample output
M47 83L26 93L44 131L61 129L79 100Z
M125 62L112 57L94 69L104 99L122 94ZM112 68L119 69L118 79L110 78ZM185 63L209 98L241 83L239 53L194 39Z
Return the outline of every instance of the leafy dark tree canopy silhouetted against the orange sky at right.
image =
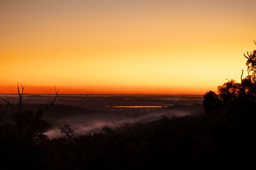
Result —
M242 78L242 70L240 83L228 80L218 86L218 94L208 91L203 96L203 106L208 115L223 115L232 124L247 124L255 118L256 50L244 56L247 59L247 76Z

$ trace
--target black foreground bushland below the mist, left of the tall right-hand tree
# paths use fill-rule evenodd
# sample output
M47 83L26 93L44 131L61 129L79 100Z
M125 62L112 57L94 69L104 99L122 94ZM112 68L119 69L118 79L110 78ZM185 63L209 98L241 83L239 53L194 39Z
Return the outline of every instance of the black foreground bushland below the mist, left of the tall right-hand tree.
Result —
M63 126L66 137L54 140L18 135L14 127L4 125L1 164L5 169L151 169L166 164L201 164L219 154L211 145L210 137L215 134L210 131L228 123L207 115L163 115L150 123L116 125L117 128L105 126L97 134L78 137L73 137L70 126Z

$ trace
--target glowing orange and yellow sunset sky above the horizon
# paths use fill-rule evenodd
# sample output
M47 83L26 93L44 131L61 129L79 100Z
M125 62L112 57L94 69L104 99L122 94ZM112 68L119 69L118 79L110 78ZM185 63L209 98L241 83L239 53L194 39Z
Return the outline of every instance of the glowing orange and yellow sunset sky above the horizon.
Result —
M0 94L205 94L240 80L255 0L1 0Z

